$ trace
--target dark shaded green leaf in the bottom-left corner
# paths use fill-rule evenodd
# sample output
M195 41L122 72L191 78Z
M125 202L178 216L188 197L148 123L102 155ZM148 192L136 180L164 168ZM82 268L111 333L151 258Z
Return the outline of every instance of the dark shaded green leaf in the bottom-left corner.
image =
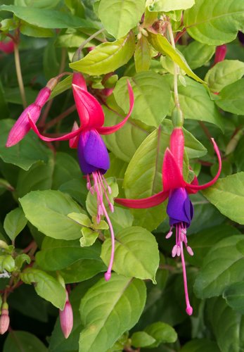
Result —
M3 352L47 352L46 346L30 332L12 330L4 342Z

